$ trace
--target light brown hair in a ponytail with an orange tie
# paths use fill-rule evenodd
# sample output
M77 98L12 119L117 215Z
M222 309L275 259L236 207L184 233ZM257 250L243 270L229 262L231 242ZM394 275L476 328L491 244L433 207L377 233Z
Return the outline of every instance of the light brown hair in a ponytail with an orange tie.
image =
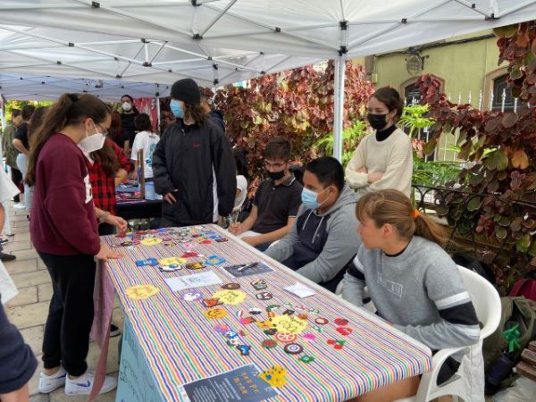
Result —
M376 227L389 223L397 229L398 235L410 240L415 235L440 245L447 246L446 230L426 214L414 209L411 200L395 189L383 189L365 194L356 205L357 219L372 219Z

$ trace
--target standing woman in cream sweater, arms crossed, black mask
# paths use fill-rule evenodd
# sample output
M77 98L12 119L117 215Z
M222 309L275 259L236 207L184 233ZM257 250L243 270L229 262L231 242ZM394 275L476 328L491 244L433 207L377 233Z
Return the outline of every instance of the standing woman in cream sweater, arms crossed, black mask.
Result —
M413 148L411 138L395 125L404 110L397 90L383 87L367 105L374 132L361 140L346 168L346 180L357 194L394 188L411 195Z

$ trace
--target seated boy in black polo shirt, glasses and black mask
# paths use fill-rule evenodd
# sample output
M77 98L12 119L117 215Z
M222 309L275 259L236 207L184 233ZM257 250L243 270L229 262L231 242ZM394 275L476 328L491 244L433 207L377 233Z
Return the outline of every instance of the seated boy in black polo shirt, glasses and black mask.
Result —
M264 251L273 241L289 233L301 205L302 185L289 172L292 145L289 139L275 137L264 151L264 180L255 195L251 214L244 222L232 223L229 231L247 244Z

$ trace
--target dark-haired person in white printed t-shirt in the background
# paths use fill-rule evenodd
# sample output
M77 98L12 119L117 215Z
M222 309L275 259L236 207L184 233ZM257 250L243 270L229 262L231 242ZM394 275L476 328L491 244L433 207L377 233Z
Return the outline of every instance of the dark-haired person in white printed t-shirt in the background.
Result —
M138 151L143 150L143 172L146 181L153 181L153 154L160 137L153 130L151 118L147 113L140 113L134 120L136 125L136 138L132 144L132 154L130 160L134 161L134 172L132 179L138 180Z

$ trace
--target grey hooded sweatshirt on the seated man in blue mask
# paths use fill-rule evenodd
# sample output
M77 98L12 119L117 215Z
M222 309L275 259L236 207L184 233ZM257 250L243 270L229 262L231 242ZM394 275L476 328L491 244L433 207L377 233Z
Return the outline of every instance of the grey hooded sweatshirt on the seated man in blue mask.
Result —
M264 253L324 286L339 276L361 244L356 233L356 202L356 193L345 185L324 214L301 205L289 234ZM337 283L324 287L333 286Z

